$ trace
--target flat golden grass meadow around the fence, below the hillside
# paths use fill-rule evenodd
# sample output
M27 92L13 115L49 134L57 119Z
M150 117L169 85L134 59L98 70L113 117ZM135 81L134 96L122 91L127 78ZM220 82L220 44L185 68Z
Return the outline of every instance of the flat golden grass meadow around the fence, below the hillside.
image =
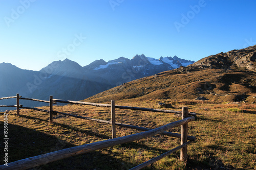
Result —
M197 141L188 147L187 169L256 168L256 109L253 104L223 104L213 101L125 99L117 105L158 108L158 102L172 103L175 107L188 106L198 113L189 123L189 135ZM238 108L229 109L229 108ZM49 109L45 107L43 109ZM229 109L229 110L228 110ZM109 108L67 105L54 110L110 120ZM180 110L180 109L176 109ZM239 112L235 112L239 111ZM55 115L54 124L48 125L48 115L22 110L20 117L9 113L9 161L15 161L74 145L109 139L110 125ZM180 119L173 114L117 109L117 122L155 128ZM1 122L1 125L3 123ZM180 132L180 128L170 130ZM136 130L117 128L117 136L137 133ZM1 132L2 133L2 132ZM42 169L129 169L179 145L177 138L158 135L132 143L121 144L89 154L49 163ZM1 150L1 155L3 151ZM164 158L146 169L183 169L179 152ZM218 167L218 168L217 168ZM37 168L36 168L37 169ZM38 168L39 169L39 168Z

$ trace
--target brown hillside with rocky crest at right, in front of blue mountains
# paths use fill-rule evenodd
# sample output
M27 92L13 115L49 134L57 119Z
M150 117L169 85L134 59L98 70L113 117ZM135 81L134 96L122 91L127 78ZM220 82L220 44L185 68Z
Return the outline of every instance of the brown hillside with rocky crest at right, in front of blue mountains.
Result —
M256 103L256 45L205 57L187 67L133 80L86 99L214 100Z

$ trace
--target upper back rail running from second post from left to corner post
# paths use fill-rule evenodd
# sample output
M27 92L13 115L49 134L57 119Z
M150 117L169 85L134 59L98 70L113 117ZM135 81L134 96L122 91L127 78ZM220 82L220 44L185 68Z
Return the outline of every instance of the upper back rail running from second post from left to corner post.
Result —
M108 105L108 104L98 104L98 103L89 103L89 102L65 101L65 100L59 100L59 99L53 99L53 101L54 102L59 102L59 103L91 105L91 106L98 106L98 107L111 107L111 105ZM130 109L130 110L142 110L142 111L151 111L151 112L162 112L162 113L182 114L182 111L176 111L176 110L149 109L149 108L130 107L130 106L118 106L118 105L115 105L115 108ZM189 112L188 114L192 115L192 116L196 116L197 115L196 113L192 113L192 112Z

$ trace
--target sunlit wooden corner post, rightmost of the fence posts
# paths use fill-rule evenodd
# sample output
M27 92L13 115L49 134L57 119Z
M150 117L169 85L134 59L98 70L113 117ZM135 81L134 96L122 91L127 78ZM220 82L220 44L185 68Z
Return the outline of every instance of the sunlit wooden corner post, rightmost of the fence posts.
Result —
M188 107L182 107L182 119L188 117ZM180 144L187 142L187 124L181 126L181 141ZM180 160L187 160L187 146L180 150Z

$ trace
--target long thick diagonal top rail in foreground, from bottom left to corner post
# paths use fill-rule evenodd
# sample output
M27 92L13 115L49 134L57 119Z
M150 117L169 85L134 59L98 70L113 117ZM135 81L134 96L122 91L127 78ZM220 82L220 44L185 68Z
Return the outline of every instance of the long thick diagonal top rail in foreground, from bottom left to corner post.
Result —
M187 124L192 120L195 120L195 117L187 117L182 120L178 120L176 122L172 122L162 127L159 127L150 131L146 131L146 132L136 133L136 134L118 137L118 138L109 139L109 140L98 141L90 144L84 144L77 147L67 148L67 149L63 149L63 150L59 150L59 151L55 151L55 152L51 152L43 155L38 155L38 156L18 160L15 162L8 163L8 166L0 165L0 169L4 169L4 168L5 169L28 169L31 167L43 165L46 162L50 163L60 159L68 158L70 156L84 154L84 153L92 152L92 151L103 149L103 148L109 148L118 144L132 142L132 141L143 139L146 137L152 137L157 134L163 133L168 129Z

